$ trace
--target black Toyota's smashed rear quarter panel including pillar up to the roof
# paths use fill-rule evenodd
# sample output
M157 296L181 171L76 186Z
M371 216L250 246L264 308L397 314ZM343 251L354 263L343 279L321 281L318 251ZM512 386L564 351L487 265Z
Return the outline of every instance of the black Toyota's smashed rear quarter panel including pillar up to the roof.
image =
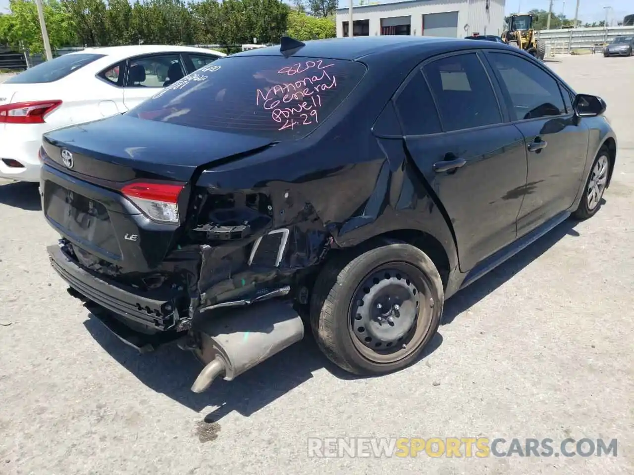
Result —
M373 81L370 68L347 104L328 119L328 127L202 171L192 196L224 196L226 223L257 225L243 238L200 244L200 306L292 283L294 274L321 263L331 247L350 248L394 231L429 234L443 246L450 269L456 267L450 228L422 175L408 162L402 137L372 134L402 79L382 74ZM245 200L251 203L245 205ZM196 225L216 222L210 214L214 210L193 203ZM249 265L256 240L280 228L288 229L281 262L276 265L271 252L268 259Z

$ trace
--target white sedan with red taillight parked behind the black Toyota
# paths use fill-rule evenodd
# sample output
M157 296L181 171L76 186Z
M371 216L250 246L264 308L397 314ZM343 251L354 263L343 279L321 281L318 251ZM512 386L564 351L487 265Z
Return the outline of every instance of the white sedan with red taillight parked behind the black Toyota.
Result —
M0 84L0 177L39 181L42 134L124 113L226 56L188 46L87 48Z

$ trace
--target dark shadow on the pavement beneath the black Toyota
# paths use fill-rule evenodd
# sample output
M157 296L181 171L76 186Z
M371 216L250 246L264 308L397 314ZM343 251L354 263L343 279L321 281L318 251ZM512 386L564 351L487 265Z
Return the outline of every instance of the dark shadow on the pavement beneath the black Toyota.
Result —
M574 231L576 222L566 220L543 238L515 255L507 262L457 293L445 303L443 325L450 324L463 311L500 287L526 265L540 257L564 236L579 236ZM166 345L152 353L139 353L124 343L91 315L84 322L87 331L117 362L123 365L141 383L174 401L200 412L216 406L205 417L206 422L219 421L232 411L248 417L266 407L278 397L294 390L313 377L313 372L325 368L339 379L356 379L336 367L323 356L308 331L304 339L274 355L256 367L236 377L234 381L217 379L205 393L193 393L191 384L202 369L202 364L190 352L176 345ZM442 326L420 359L434 352L443 342ZM420 359L418 363L420 363Z

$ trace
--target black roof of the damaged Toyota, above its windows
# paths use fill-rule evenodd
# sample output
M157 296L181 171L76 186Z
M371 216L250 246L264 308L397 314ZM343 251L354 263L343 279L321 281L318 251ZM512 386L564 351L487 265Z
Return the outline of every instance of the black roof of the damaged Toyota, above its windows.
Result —
M420 56L425 49L434 50L473 48L474 41L463 38L423 37L405 35L363 36L353 38L330 38L305 42L306 46L297 49L292 56L311 58L330 58L333 60L359 60L360 58L389 58L398 51L399 56L408 53ZM486 47L505 47L506 45L489 42ZM280 45L251 49L231 56L283 56Z

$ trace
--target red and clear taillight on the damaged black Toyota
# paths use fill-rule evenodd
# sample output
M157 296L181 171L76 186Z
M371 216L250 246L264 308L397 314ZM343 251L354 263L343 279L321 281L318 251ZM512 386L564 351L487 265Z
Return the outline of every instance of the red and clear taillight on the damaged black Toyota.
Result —
M131 183L121 192L145 215L158 222L178 224L178 197L182 185L163 183Z

